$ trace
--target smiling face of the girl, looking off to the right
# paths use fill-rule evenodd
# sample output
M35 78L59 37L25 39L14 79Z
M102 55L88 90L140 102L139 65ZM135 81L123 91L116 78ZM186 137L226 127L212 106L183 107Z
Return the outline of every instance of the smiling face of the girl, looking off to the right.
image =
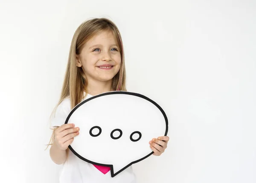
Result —
M82 67L88 82L111 81L121 64L121 53L113 33L103 31L87 41L76 61L77 67Z

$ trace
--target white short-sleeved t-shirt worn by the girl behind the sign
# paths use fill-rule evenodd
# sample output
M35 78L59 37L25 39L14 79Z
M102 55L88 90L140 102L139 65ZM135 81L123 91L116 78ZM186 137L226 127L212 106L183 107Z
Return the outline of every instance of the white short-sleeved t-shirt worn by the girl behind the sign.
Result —
M87 94L82 101L90 97L92 96ZM51 120L52 127L63 125L70 111L70 99L64 99L57 107L55 116ZM62 166L59 183L136 183L136 176L131 166L115 177L111 177L110 171L103 174L95 166L81 160L70 150L68 159Z

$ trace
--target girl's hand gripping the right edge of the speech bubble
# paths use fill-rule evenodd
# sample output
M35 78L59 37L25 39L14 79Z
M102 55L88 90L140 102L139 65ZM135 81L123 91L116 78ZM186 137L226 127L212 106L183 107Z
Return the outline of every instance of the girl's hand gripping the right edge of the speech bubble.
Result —
M151 141L149 141L150 148L154 151L153 155L160 156L167 148L168 141L168 136L158 137L157 139L153 138Z

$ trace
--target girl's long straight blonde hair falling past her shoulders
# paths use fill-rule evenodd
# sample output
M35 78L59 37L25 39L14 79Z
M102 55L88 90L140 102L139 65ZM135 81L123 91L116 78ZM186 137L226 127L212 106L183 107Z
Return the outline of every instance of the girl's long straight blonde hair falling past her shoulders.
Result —
M71 109L73 109L73 107L79 104L83 99L84 91L87 93L88 81L82 68L76 66L76 55L79 55L81 53L84 44L90 38L92 38L101 31L111 31L113 33L114 38L117 42L118 49L121 53L120 69L112 79L112 88L114 90L126 91L125 58L122 37L119 33L119 29L117 28L115 23L107 18L90 19L81 23L81 25L76 29L76 32L73 35L73 39L70 45L67 69L61 90L61 96L58 104L56 105L52 113L54 113L58 105L60 105L61 102L67 97L70 97L70 107ZM53 144L55 129L52 129L52 136L50 138L49 144L47 145L47 148L49 145Z

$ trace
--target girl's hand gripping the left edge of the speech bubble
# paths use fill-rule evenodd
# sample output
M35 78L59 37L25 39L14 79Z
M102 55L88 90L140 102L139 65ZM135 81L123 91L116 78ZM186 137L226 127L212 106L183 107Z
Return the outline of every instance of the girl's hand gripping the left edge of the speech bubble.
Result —
M79 135L79 128L74 124L64 124L55 130L54 142L61 150L66 150L73 142L74 137Z

